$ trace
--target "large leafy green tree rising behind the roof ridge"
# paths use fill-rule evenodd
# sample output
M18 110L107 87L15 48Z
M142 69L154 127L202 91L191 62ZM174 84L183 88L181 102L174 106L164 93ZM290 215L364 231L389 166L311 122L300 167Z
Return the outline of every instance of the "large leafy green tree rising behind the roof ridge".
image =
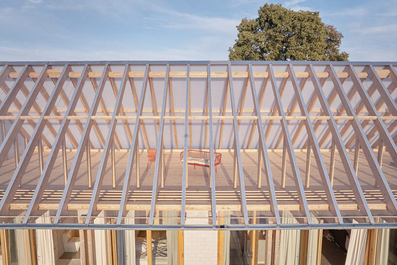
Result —
M258 18L243 18L229 48L230 60L347 61L340 52L343 35L321 21L318 12L265 4Z

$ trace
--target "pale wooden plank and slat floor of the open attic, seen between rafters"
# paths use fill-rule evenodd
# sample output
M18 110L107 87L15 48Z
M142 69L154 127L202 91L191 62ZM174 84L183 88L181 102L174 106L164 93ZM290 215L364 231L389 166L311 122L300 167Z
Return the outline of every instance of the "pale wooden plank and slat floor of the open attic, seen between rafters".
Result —
M217 168L215 174L215 190L216 190L216 209L240 211L240 190L233 189L233 153L232 151L220 151L222 153L222 162ZM116 188L112 188L112 168L109 159L106 174L104 176L103 185L101 187L100 198L98 203L99 210L118 210L121 199L121 190L124 182L124 174L128 159L126 150L116 151ZM353 159L353 151L349 151L349 156ZM46 160L49 152L44 151L44 159ZM75 151L67 151L68 168L72 163ZM136 187L136 169L132 172L131 190L127 210L146 210L150 209L151 192L153 187L153 166L154 163L149 162L149 169L145 172L147 165L146 150L140 150L140 188ZM322 153L326 166L329 169L330 152ZM99 160L102 152L92 150L92 179L96 179ZM305 182L306 171L306 152L296 151L298 166L302 182ZM342 163L336 153L335 175L333 190L338 202L338 206L344 217L362 215L358 213L357 203L350 188L347 176L342 167ZM265 169L262 166L262 187L257 188L257 159L256 150L243 151L242 163L244 172L244 181L246 188L248 211L257 211L267 214L270 212L269 193ZM277 203L279 210L299 211L298 191L293 180L293 175L289 161L287 159L286 171L286 188L281 188L281 159L282 152L269 150L269 159L271 164L271 172L274 179L274 187L276 190ZM165 187L159 188L157 195L157 210L180 210L182 202L182 163L180 162L180 151L167 150L165 152L165 168L164 173ZM387 178L395 197L397 197L397 174L396 166L391 161L387 152L383 154L382 170ZM8 159L2 166L0 172L0 197L6 189L10 178L15 170L14 159ZM33 195L38 178L40 177L40 169L38 166L37 153L33 155L33 159L22 179L20 188L14 196L11 210L27 209L30 199ZM384 199L380 190L374 186L374 177L366 163L366 159L361 152L359 159L358 178L364 191L365 198L369 208L372 211L378 211L380 216L389 215L386 210ZM159 178L160 179L160 178ZM210 210L211 209L211 190L209 188L209 169L203 167L188 166L188 189L186 192L186 210ZM94 184L94 183L93 183ZM160 181L159 181L160 187ZM239 185L239 183L238 183ZM46 192L42 197L40 209L56 210L59 205L64 189L64 176L62 155L59 154L55 166L52 170L50 180L46 184ZM68 204L69 210L86 210L91 199L92 189L88 189L87 184L87 166L85 156L81 163L76 185L73 188L71 201ZM328 216L328 201L322 186L321 178L318 174L315 159L312 157L310 188L305 188L305 194L308 201L310 211L328 212L324 216ZM374 214L376 215L376 214ZM34 214L33 214L34 216Z

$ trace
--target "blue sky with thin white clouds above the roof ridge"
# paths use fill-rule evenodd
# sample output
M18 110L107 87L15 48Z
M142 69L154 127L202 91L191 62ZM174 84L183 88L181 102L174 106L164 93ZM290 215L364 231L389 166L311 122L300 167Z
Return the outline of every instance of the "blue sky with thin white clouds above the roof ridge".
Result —
M0 61L227 60L260 0L0 0ZM352 61L397 60L397 0L287 0L319 11Z

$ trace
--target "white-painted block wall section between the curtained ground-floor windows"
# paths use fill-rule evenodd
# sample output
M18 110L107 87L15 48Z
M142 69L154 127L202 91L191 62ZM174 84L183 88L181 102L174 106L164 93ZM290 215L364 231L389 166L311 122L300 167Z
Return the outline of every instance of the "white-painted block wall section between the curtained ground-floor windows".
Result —
M186 225L208 225L208 212L186 212ZM214 265L217 261L218 233L211 230L184 231L185 265Z

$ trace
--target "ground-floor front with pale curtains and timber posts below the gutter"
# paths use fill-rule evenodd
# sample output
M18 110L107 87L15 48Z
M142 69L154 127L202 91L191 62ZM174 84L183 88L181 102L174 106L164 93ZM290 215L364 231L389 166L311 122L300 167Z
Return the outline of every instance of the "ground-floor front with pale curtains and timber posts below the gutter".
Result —
M187 214L211 220L208 211ZM0 243L3 265L397 264L394 229L0 230Z

